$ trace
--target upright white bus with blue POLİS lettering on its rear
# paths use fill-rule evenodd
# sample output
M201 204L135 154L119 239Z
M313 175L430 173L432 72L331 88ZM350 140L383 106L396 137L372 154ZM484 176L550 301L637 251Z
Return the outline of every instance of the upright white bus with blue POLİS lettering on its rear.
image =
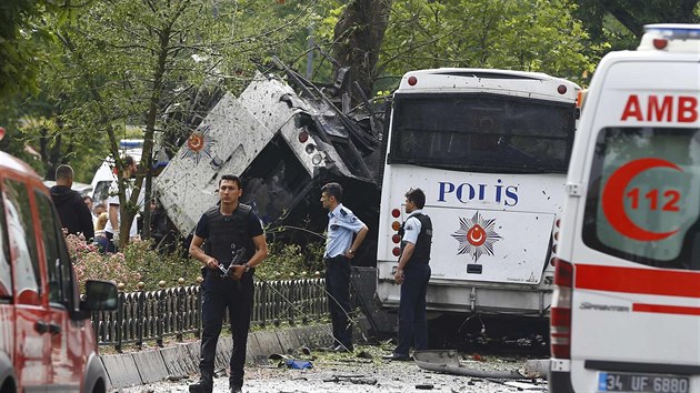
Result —
M429 311L547 318L580 88L544 73L434 69L393 94L379 218L378 286L393 274L404 193L433 224Z

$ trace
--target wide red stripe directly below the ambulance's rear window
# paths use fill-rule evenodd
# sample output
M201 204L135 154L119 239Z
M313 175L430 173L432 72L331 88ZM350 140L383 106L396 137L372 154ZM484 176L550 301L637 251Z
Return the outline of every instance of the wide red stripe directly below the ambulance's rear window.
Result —
M576 289L700 298L700 272L577 264Z

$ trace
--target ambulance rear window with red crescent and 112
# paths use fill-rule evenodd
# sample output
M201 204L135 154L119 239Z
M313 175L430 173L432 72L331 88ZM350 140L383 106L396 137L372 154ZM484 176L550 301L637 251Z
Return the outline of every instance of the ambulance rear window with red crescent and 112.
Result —
M589 185L586 244L651 266L700 270L700 129L601 130Z

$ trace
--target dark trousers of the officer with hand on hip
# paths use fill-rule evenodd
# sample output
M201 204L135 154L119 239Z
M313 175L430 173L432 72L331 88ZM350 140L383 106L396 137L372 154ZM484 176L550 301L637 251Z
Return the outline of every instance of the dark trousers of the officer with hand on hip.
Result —
M352 349L352 324L350 322L350 261L344 255L327 258L326 291L328 309L337 344Z

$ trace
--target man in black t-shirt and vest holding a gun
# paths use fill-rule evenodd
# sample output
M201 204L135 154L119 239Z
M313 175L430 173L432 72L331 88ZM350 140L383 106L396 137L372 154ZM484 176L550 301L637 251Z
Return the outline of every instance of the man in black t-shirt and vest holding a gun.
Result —
M211 393L213 389L217 341L227 308L233 335L230 392L240 392L243 385L253 302L252 270L268 256L268 244L258 215L250 206L239 203L242 193L238 177L221 177L221 202L199 220L190 244L190 255L204 264L200 380L190 385L191 393Z

